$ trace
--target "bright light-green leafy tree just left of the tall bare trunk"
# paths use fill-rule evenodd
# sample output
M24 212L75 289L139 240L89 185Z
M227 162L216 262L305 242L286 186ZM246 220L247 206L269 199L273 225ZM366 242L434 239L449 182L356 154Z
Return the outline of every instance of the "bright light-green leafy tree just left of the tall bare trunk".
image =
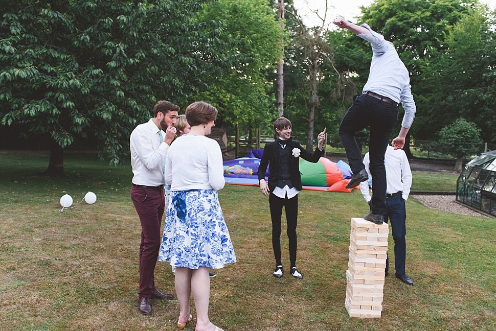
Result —
M219 0L205 8L201 20L219 20L224 48L223 65L205 81L199 96L219 110L218 126L252 132L267 127L277 116L271 76L285 38L268 0Z

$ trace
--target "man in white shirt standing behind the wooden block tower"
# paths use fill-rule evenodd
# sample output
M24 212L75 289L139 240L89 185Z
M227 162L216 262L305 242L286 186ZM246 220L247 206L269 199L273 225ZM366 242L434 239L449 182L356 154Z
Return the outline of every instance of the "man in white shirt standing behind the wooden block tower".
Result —
M369 163L369 153L367 153L364 157L367 173L370 173ZM413 285L413 280L405 274L405 255L407 252L405 242L405 234L407 234L407 228L405 226L405 220L407 219L405 201L408 199L410 187L412 186L412 172L410 171L410 164L408 163L405 152L403 150L394 150L391 146L388 146L386 149L385 165L388 183L386 190L387 211L384 213L384 221L388 223L388 219L391 220L396 278L407 285ZM371 197L367 181L360 182L360 191L362 191L365 201L370 204ZM386 259L386 276L388 275L388 271L389 258Z

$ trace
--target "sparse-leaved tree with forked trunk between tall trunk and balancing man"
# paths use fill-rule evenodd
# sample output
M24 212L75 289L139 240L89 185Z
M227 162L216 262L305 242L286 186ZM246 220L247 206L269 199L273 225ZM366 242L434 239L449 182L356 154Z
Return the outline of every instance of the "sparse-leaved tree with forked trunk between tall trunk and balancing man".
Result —
M328 42L332 31L327 11L319 15L320 26L312 28L304 25L291 5L286 17L291 42L286 49L285 113L289 119L295 119L292 123L294 135L306 140L306 149L311 150L315 126L319 132L327 127L327 132L332 133L331 126L336 122L334 105L336 100L341 103L342 90L349 81L334 66L334 44Z

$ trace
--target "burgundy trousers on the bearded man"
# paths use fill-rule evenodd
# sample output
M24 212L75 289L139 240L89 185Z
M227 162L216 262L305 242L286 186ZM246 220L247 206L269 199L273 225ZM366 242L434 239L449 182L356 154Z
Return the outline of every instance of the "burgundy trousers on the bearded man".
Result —
M160 226L164 215L164 189L131 187L131 200L141 222L140 297L151 298L154 271L161 244Z

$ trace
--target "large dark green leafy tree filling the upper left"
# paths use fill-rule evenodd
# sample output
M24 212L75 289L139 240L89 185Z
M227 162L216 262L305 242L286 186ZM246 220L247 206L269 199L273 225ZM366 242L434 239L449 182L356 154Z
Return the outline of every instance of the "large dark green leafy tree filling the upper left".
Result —
M93 137L111 163L128 154L129 134L156 98L205 87L220 30L195 22L205 1L22 0L0 12L2 125L51 137L49 173L63 149Z

